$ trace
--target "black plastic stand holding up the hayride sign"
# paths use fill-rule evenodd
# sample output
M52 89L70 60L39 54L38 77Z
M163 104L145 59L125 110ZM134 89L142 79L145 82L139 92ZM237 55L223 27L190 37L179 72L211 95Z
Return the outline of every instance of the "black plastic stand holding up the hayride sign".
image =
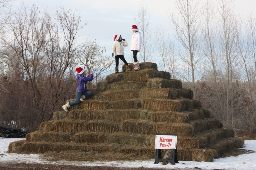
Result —
M156 135L177 136L177 134L160 134L160 133L157 133ZM179 163L178 156L177 156L177 149L170 149L170 150L172 150L172 158L163 159L163 157L161 156L161 149L156 149L156 158L155 158L154 164L158 164L159 162L163 162L163 161L170 162L172 165L175 165L175 163Z

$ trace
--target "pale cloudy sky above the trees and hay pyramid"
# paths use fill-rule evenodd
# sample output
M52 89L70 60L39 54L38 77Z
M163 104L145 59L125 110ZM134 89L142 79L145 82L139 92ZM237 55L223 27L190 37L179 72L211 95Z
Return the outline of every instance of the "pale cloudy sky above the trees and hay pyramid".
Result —
M201 0L204 1L204 0ZM215 2L215 0L212 0ZM137 14L139 0L24 0L13 1L13 9L20 6L21 2L31 6L35 4L39 10L48 8L49 12L55 12L57 6L77 9L81 12L83 22L87 25L79 32L77 41L83 42L96 39L101 47L105 47L111 55L111 47L115 34L121 34L128 43L131 41L134 24L134 16ZM170 37L173 37L172 26L168 18L169 11L175 12L174 0L145 0L149 6L150 28L154 34L157 25L164 27ZM236 0L235 11L247 13L254 10L256 0ZM140 28L139 28L140 29ZM129 44L130 45L130 44ZM131 55L129 47L125 47L125 55ZM129 61L132 62L132 61Z

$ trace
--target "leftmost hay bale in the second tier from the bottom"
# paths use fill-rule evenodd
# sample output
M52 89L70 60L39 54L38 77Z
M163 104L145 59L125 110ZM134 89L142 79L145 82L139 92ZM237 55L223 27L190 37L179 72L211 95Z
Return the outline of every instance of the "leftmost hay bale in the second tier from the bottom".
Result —
M42 132L35 131L26 135L29 142L71 142L71 133L67 132Z

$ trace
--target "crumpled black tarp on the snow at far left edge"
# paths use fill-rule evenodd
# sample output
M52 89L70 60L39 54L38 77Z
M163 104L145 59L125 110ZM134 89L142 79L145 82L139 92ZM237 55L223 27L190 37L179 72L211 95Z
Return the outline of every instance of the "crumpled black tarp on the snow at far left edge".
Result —
M26 132L21 129L16 128L6 128L3 126L0 126L0 137L4 138L24 138L26 137L26 134L29 132Z

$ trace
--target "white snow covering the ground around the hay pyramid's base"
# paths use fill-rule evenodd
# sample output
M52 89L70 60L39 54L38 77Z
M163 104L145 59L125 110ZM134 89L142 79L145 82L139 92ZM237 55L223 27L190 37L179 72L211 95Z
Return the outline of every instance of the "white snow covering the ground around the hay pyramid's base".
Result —
M43 155L34 154L16 154L6 153L10 142L23 140L22 138L6 139L0 138L0 163L43 163L43 164L63 164L63 165L78 165L78 166L115 166L115 167L146 167L146 168L194 168L201 169L246 169L256 170L256 153L243 154L236 157L227 157L214 159L213 162L192 162L179 161L176 165L162 165L154 164L155 160L147 161L94 161L94 162L71 162L71 161L57 161L50 162L43 158ZM256 152L256 140L245 141L243 149L248 149Z

